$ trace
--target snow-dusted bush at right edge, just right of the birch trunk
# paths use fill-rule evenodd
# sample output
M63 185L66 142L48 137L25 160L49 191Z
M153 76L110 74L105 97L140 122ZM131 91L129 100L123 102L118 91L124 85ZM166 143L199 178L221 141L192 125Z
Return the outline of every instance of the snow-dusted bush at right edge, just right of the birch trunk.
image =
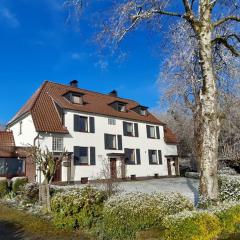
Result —
M219 175L218 182L221 201L240 201L240 175Z

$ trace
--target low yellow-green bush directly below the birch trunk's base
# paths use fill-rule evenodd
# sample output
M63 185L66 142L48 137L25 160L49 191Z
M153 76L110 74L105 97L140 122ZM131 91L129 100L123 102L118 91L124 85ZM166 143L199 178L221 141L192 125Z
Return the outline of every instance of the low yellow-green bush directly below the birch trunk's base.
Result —
M185 211L163 220L163 238L168 240L211 240L221 232L219 219L212 213Z

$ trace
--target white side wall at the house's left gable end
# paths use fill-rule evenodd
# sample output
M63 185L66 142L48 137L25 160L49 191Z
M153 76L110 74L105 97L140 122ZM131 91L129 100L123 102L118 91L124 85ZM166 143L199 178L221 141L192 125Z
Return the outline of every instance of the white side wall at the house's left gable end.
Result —
M20 134L20 122L22 122L22 133ZM13 131L16 146L33 145L34 138L37 136L32 115L28 114L19 119L9 128Z

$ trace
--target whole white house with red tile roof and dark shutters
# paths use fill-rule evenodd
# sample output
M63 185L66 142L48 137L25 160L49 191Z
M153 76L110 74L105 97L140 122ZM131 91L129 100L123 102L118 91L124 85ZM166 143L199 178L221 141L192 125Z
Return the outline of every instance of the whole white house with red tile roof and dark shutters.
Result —
M9 122L17 146L38 145L69 160L56 181L178 175L177 140L147 107L120 98L45 81ZM104 170L105 171L105 170ZM36 170L37 172L37 170Z

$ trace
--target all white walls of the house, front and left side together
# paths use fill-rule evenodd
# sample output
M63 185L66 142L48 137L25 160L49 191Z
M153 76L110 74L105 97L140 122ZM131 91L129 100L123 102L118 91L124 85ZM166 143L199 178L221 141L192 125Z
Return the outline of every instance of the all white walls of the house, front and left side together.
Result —
M74 115L85 117L94 117L95 132L76 132L74 131ZM71 168L62 166L62 181L80 181L81 178L88 178L95 180L103 178L102 170L104 163L109 161L107 154L109 153L124 153L125 148L140 149L141 164L126 165L126 177L136 175L136 177L147 177L158 174L159 176L168 175L167 159L165 156L177 155L177 146L166 144L164 141L164 130L161 125L154 125L150 123L134 122L127 119L119 119L114 117L107 117L94 114L79 113L65 110L65 126L69 134L51 134L36 132L31 114L28 114L21 120L15 122L10 126L13 131L16 145L26 146L39 144L42 148L48 147L52 149L53 137L63 138L63 146L66 151L74 152L74 146L78 147L95 147L95 165L74 165L74 160L71 160ZM108 119L115 119L116 125L109 125ZM137 123L139 137L123 136L123 121ZM21 126L20 126L21 125ZM160 130L160 139L147 138L146 125L158 126ZM122 136L122 150L106 150L104 142L104 134L121 135ZM161 150L162 164L149 164L149 150ZM136 159L136 152L135 152ZM117 166L120 165L120 159L117 159ZM175 170L172 170L175 174ZM118 172L118 177L120 173Z

